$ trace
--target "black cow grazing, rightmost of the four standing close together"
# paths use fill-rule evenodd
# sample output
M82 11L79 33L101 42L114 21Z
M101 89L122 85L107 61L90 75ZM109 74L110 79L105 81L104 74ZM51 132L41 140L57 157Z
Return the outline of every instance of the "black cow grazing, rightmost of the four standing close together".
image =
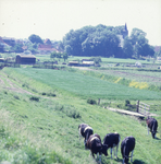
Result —
M121 153L123 156L123 164L127 164L128 163L128 159L131 157L131 162L133 162L133 152L134 152L134 148L135 148L135 138L132 137L126 137L121 144ZM129 152L132 152L131 156Z

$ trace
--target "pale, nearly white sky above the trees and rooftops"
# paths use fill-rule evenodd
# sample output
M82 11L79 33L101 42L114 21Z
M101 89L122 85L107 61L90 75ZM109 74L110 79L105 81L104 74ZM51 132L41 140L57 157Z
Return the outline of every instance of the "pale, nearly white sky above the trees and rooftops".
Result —
M161 0L0 0L0 36L62 40L84 26L126 23L147 33L149 44L161 46Z

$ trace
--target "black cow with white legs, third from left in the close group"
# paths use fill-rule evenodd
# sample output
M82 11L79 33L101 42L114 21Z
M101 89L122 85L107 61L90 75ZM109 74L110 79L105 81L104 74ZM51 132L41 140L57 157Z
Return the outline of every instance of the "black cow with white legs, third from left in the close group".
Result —
M120 143L120 134L119 133L108 133L103 139L103 144L108 145L108 149L111 148L111 159L112 159L112 149L116 147L115 156L117 159L117 148ZM114 151L114 149L113 149Z

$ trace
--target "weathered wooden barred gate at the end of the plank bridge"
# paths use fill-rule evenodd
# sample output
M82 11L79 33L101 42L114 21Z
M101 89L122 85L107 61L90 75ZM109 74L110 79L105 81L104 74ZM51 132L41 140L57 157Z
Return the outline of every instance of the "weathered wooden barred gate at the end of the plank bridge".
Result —
M148 116L150 114L150 105L146 103L137 101L136 107L137 113L144 114L145 116Z

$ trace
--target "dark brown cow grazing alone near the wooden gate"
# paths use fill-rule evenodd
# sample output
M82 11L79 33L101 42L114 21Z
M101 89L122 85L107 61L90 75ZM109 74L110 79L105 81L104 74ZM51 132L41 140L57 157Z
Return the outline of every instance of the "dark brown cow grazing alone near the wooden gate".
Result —
M147 128L148 128L148 134L149 134L149 130L151 132L152 138L156 138L156 133L157 133L157 128L158 128L158 121L154 118L148 117L146 119L147 122Z

